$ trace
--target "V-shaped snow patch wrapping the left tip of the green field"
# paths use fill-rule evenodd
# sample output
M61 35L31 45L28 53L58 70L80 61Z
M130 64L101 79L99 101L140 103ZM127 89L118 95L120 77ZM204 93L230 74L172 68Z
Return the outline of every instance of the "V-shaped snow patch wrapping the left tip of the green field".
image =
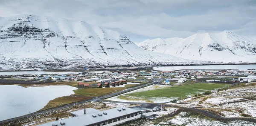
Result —
M168 88L171 86L164 86L164 85L151 85L151 86L147 86L145 88L141 88L141 89L137 89L135 91L131 91L131 92L127 92L125 94L131 94L131 93L135 93L135 92L145 92L148 90L155 90L155 89L163 89L163 88ZM165 102L169 102L177 97L152 97L150 99L143 99L142 97L130 97L130 96L126 96L125 94L121 94L115 97L111 97L108 98L107 100L113 100L113 101L122 101L122 102L138 102L138 103L148 103L148 102L153 102L153 103L165 103ZM125 96L128 97L129 100L125 100L125 99L121 99L119 98L119 96ZM134 99L134 100L133 100Z

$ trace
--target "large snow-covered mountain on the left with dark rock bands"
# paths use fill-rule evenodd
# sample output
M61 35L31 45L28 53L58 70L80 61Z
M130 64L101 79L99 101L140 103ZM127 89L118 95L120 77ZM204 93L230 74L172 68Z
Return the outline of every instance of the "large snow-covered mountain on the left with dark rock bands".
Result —
M202 63L144 51L125 35L83 21L0 18L0 70Z

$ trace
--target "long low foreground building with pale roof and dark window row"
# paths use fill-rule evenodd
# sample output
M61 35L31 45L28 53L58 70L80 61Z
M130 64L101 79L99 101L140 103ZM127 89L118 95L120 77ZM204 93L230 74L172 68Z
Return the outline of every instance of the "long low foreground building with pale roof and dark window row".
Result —
M71 114L76 117L44 123L38 126L116 126L141 117L140 110L126 107L104 111L82 109L71 112Z

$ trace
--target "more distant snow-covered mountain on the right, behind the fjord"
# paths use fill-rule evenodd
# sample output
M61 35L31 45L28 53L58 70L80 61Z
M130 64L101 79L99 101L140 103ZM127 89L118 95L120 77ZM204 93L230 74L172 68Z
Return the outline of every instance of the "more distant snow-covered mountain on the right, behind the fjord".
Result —
M194 34L187 38L157 38L137 43L137 46L191 60L256 63L256 40L232 31Z

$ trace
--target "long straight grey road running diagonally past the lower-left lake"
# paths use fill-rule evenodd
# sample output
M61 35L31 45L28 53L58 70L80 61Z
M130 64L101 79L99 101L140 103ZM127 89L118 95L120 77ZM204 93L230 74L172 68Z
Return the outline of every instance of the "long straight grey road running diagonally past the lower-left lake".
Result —
M101 97L95 97L95 98L91 98L91 99L87 99L87 100L82 100L82 101L80 101L80 102L77 102L75 105L79 105L79 104L87 103L87 102L92 102L92 101L100 101L101 99L105 99L105 98L109 98L109 97L114 97L114 96L116 96L116 95L120 95L120 94L123 94L123 93L131 92L131 91L134 91L134 90L137 90L137 89L146 87L146 86L150 86L150 85L159 83L159 82L162 81L162 80L163 80L163 79L154 80L154 81L151 82L151 83L143 84L143 85L141 85L141 86L137 86L137 87L134 87L134 88L125 89L125 90L122 90L122 91L120 91L120 92L115 92L115 93L113 93L113 94L108 94L108 95L103 95L103 96L101 96ZM40 115L40 114L43 114L43 113L46 113L46 112L51 112L51 111L55 111L55 110L59 110L59 109L64 109L64 108L71 107L71 106L74 106L74 103L70 103L70 104L67 104L67 105L64 105L64 106L59 106L59 107L52 108L52 109L46 109L46 110L39 111L39 112L33 112L33 113L30 113L30 114L27 114L27 115L23 115L23 116L20 116L20 117L11 118L11 119L8 119L8 120L2 120L2 121L0 121L0 126L1 126L1 124L10 122L10 121L12 121L12 120L19 120L19 119L22 119L22 118L25 118L25 117Z

